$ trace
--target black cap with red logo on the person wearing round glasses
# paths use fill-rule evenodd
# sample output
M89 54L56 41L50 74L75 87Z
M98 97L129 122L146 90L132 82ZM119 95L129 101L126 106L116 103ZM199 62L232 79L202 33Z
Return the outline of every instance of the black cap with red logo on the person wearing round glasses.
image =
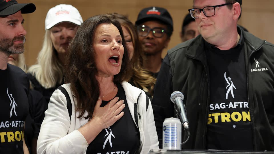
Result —
M140 25L146 21L156 20L168 25L171 33L173 31L173 20L170 13L162 7L147 7L138 14L135 25Z

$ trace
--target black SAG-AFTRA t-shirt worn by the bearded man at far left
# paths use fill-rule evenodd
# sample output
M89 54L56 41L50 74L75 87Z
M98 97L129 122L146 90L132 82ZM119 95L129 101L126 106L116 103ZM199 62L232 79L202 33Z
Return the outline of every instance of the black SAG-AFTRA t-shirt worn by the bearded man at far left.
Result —
M7 64L0 70L0 82L0 153L23 153L29 79L19 67Z

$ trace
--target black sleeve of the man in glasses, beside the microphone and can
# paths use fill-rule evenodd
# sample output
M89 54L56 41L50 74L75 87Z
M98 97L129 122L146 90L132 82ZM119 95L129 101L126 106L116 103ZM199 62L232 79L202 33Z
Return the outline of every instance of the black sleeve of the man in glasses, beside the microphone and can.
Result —
M152 108L154 121L159 140L159 147L162 148L162 127L165 118L174 117L173 103L170 101L172 93L172 74L170 70L170 60L165 56L157 81L154 87Z

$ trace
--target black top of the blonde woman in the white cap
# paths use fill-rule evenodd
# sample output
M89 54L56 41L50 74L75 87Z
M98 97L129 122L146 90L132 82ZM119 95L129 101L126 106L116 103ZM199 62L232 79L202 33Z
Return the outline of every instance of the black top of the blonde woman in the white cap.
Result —
M46 102L49 103L49 99L51 98L51 95L53 94L54 90L56 88L58 88L59 86L61 86L62 84L64 84L64 80L62 81L61 84L57 84L55 87L53 88L45 88L43 87L38 80L35 78L35 76L33 76L31 73L28 73L29 76L29 81L31 82L31 85L33 86L34 90L37 90L38 92L40 92L44 97Z

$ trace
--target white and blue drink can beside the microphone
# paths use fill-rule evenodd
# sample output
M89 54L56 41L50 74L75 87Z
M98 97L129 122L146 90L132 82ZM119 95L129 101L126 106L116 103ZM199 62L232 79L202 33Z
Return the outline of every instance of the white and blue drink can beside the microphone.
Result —
M163 149L181 150L182 123L178 118L166 118L163 123Z

